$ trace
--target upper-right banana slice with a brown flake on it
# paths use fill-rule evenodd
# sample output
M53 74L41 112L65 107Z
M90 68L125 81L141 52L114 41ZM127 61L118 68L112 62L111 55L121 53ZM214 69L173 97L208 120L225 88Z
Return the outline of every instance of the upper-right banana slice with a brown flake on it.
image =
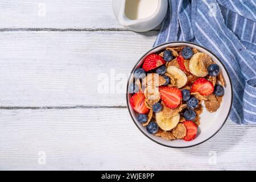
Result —
M210 56L203 52L197 52L189 61L189 71L197 77L205 77L208 75L208 65L213 63Z

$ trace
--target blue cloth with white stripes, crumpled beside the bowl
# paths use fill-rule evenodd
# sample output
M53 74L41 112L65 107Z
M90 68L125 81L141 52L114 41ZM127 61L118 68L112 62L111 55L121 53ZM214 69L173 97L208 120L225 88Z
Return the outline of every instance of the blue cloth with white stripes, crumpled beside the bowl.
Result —
M230 119L256 123L256 0L168 0L154 46L189 41L210 49L233 84Z

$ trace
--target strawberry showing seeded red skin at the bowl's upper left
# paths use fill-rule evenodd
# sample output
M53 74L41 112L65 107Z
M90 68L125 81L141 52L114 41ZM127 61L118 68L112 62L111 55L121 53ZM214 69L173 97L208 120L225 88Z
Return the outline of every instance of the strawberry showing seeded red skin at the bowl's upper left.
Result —
M142 65L142 68L144 71L150 71L151 69L155 69L157 67L160 67L160 65L165 64L166 61L163 60L163 57L159 55L148 55L146 59L144 60L144 63Z

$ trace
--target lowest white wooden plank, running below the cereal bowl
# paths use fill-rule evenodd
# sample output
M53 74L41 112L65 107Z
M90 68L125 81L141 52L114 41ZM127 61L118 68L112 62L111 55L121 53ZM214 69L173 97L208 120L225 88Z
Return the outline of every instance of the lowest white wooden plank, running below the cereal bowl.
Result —
M0 110L0 169L256 169L256 126L228 121L185 149L144 137L127 109ZM38 153L46 152L46 165ZM216 154L216 164L209 163ZM211 160L210 160L211 161Z

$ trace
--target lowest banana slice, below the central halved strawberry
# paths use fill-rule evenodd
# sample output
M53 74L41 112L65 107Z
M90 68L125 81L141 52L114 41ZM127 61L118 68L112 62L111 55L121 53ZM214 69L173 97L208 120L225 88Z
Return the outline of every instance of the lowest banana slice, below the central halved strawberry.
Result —
M155 113L155 121L158 123L158 126L160 129L164 131L169 131L173 129L177 123L179 123L180 120L180 114L175 115L174 117L168 117L164 115L164 113L161 111L159 113Z

